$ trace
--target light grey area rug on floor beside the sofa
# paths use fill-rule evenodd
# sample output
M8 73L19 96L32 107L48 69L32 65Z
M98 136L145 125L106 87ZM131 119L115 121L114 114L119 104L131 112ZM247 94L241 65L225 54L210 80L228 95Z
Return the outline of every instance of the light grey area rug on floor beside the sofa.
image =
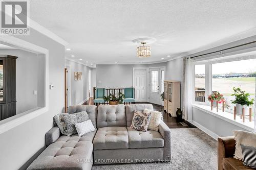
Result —
M114 169L217 169L217 141L198 128L170 129L172 161L168 163L131 163L93 165L93 170Z

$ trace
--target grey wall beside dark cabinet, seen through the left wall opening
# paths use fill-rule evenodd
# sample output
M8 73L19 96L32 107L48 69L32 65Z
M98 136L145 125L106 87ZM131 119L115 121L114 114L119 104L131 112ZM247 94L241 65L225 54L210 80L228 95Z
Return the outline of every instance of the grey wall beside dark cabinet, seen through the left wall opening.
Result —
M1 55L13 55L16 59L16 114L37 107L37 55L16 49L0 49Z

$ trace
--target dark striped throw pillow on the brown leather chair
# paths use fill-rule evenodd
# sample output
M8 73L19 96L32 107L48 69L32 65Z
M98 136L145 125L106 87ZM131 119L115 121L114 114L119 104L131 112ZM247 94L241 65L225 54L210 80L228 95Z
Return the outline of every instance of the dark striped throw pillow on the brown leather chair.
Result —
M256 168L256 147L240 144L244 158L244 165Z

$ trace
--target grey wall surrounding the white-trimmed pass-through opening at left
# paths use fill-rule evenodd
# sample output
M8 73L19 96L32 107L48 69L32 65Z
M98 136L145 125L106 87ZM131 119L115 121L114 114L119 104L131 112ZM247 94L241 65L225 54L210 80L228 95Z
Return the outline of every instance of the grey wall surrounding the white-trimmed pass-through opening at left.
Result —
M49 50L49 111L0 134L1 169L26 169L44 150L45 134L53 127L53 116L64 108L65 46L30 28L29 36L16 36Z

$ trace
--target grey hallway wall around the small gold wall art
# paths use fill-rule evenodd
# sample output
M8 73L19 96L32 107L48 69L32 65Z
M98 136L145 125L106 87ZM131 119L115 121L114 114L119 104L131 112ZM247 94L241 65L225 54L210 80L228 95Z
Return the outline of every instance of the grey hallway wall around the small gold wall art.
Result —
M81 104L89 98L88 70L91 68L71 60L65 60L65 65L71 69L71 105ZM75 81L75 72L82 72L82 80Z

